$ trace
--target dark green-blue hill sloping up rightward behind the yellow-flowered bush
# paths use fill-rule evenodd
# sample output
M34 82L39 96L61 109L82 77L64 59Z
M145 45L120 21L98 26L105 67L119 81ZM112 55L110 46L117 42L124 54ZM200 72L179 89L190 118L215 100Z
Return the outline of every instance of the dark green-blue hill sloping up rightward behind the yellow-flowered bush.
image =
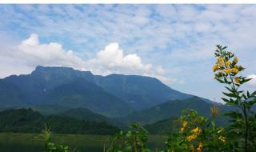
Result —
M183 100L165 102L146 110L136 111L124 118L120 118L120 120L126 123L154 123L163 119L178 117L182 114L182 110L186 108L197 110L199 114L210 118L210 106L211 104L205 102L204 99L194 96ZM220 108L223 109L224 107L220 106ZM219 121L222 121L222 119Z

